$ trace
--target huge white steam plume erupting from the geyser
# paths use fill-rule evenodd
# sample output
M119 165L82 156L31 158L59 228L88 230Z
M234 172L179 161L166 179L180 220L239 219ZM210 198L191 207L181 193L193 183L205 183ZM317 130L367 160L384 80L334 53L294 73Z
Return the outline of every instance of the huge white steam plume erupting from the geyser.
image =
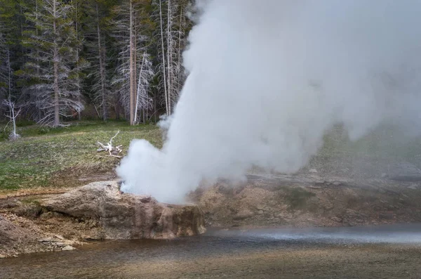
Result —
M420 127L421 1L208 0L162 150L133 141L124 191L181 202L257 165L297 171L343 123Z

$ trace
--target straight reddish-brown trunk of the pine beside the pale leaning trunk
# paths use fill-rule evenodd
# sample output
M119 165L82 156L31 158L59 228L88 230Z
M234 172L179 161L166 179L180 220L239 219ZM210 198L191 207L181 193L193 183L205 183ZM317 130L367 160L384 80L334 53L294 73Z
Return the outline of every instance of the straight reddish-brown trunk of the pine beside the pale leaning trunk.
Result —
M134 30L133 30L133 1L129 0L130 2L130 124L135 124L135 84L136 84L136 77L135 77L135 37L134 37Z

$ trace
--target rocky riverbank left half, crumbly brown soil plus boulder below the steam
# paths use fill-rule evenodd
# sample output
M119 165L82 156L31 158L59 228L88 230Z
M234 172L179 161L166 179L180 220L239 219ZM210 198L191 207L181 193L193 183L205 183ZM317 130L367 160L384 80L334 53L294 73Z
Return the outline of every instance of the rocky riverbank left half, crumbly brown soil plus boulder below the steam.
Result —
M0 257L74 249L89 240L171 239L205 231L196 205L123 194L115 181L62 195L0 201Z

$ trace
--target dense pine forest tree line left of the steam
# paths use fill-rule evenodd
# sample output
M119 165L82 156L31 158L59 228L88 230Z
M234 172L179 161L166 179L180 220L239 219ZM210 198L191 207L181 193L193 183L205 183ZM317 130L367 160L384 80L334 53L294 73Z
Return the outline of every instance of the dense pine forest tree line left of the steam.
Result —
M48 126L86 108L131 124L171 115L191 2L0 0L1 115Z

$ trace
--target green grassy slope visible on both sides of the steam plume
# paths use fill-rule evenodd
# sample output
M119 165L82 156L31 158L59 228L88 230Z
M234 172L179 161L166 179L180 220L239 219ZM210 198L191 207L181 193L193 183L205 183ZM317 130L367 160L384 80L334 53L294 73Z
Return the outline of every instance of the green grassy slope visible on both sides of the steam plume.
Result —
M81 122L60 129L19 127L22 138L18 141L0 141L0 193L32 187L76 186L74 181L80 176L111 172L119 159L97 153L96 142L107 143L118 130L121 132L114 143L123 145L124 154L134 138L145 138L157 147L162 145L161 133L154 125ZM352 157L366 157L374 164L380 160L405 160L421 167L420 155L420 138L403 140L401 132L381 129L350 142L337 127L325 137L325 144L312 161L328 169L337 165L335 160L342 162Z

